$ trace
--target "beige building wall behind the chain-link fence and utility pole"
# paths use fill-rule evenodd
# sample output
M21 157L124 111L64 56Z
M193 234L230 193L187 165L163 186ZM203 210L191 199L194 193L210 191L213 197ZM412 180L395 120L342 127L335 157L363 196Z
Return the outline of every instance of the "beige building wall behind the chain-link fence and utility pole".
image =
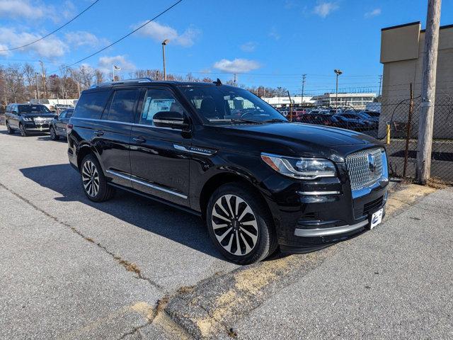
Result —
M386 123L391 121L392 115L394 122L407 123L409 101L403 100L410 98L411 83L415 98L411 134L412 137L417 136L424 45L425 31L420 30L420 23L382 29L381 62L384 73L379 137L384 137ZM453 26L440 29L436 87L434 137L453 138ZM406 132L392 131L394 137L403 135Z

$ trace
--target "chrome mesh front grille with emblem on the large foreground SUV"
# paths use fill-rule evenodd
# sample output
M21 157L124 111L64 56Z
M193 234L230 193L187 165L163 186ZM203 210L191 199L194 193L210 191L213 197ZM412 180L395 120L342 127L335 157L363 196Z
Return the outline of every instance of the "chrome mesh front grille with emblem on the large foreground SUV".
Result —
M351 189L372 186L383 173L382 149L367 149L346 157ZM374 163L374 164L372 164Z

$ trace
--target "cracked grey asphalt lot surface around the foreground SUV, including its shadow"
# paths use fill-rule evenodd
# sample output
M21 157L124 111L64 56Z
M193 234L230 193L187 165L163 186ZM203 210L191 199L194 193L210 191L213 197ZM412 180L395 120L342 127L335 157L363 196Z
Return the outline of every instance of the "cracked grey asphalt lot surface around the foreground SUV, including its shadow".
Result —
M89 201L65 142L0 145L0 339L453 338L452 188L395 188L372 232L239 267L197 217Z

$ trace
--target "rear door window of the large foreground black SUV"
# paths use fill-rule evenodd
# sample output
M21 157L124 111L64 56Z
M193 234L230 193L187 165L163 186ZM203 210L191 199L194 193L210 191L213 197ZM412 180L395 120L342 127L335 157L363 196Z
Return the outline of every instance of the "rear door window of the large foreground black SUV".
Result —
M132 123L134 121L134 108L138 94L139 89L115 91L108 115L105 118L103 117L103 119Z

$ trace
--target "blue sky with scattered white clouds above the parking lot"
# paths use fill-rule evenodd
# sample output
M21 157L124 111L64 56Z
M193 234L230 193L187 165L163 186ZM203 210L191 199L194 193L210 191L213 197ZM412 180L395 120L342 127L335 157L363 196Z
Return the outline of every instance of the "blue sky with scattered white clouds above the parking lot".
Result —
M152 18L176 0L100 0L55 35L25 50L0 52L0 63L45 61L47 71L71 64ZM0 50L49 33L92 1L0 0ZM134 69L160 69L161 41L167 72L282 86L300 94L340 89L377 91L380 30L422 21L428 0L183 0L126 40L84 63L122 77ZM443 1L441 25L453 23L453 2Z

